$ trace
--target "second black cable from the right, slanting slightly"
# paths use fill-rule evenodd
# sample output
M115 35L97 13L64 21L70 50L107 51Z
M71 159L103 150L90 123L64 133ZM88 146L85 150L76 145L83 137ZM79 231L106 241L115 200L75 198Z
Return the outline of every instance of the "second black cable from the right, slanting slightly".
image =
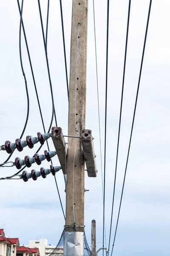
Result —
M112 201L112 211L111 211L111 227L110 227L110 234L109 234L108 256L109 256L110 242L111 242L111 229L112 229L112 220L113 220L113 205L114 205L114 195L115 195L115 185L116 185L116 172L117 172L118 152L119 152L119 137L120 137L120 126L121 126L121 119L122 119L122 103L123 103L123 91L124 91L124 82L125 82L127 41L128 41L129 20L130 20L130 3L131 3L131 0L129 0L129 8L128 8L128 15L127 15L127 31L126 31L126 44L125 44L125 59L124 59L124 68L123 68L122 96L121 96L120 116L119 116L119 132L118 132L118 140L117 140L116 167L115 167L115 177L114 177L114 187L113 187L113 201Z

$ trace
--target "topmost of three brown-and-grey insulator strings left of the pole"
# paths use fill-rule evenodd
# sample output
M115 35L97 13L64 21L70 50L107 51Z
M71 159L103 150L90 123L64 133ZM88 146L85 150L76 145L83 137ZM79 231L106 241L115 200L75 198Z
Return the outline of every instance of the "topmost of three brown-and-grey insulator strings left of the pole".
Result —
M40 132L37 132L37 137L27 136L26 140L16 139L15 143L11 143L9 140L7 140L5 145L1 146L1 150L6 150L8 154L11 154L12 151L17 148L17 150L21 152L27 145L29 148L33 148L34 144L38 142L43 145L45 140L48 140L49 137L51 137L51 133L41 134Z

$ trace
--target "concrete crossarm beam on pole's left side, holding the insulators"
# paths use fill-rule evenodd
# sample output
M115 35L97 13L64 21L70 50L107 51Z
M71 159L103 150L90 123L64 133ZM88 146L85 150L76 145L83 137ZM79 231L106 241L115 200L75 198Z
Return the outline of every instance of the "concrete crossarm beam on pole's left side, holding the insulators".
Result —
M54 147L57 151L59 163L62 167L62 172L64 174L67 170L67 146L65 143L65 139L62 134L62 128L61 127L52 127L51 129L51 138L54 143Z

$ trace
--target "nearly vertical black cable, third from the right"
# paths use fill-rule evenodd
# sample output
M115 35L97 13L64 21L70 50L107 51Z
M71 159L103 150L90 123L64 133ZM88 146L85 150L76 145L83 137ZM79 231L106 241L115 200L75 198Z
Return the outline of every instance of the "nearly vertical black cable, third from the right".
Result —
M106 173L106 134L107 134L107 98L108 98L108 38L109 38L109 0L107 7L107 39L106 39L106 91L105 91L105 156L104 156L104 188L103 188L103 256L105 232L105 173Z

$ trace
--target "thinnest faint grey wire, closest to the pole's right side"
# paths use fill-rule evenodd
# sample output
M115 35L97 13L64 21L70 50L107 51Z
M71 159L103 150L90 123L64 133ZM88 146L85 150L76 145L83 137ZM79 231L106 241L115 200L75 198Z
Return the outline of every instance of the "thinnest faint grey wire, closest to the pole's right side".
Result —
M101 176L102 176L102 195L103 195L102 145L101 145L101 129L100 129L99 86L98 86L98 69L97 69L96 24L95 24L94 0L93 0L93 16L94 16L95 57L96 57L97 103L98 103L98 119L99 119L100 167L101 167ZM104 195L103 195L103 200L104 200ZM106 227L105 227L105 247L106 247Z

